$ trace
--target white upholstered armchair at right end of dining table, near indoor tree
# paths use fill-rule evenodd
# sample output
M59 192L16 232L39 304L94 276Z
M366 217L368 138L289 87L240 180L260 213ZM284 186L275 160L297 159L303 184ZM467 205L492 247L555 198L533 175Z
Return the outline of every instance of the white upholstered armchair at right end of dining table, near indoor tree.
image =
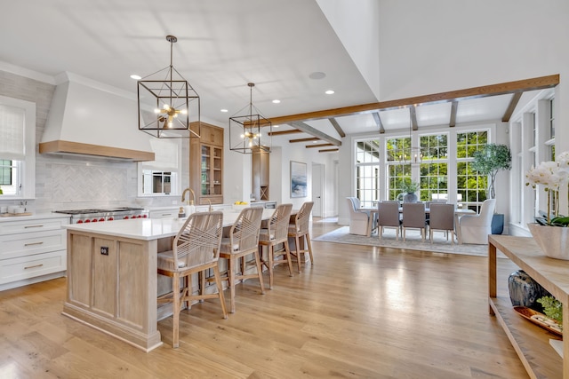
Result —
M487 199L480 207L477 215L465 215L459 219L459 243L474 243L485 245L488 235L492 234L492 216L496 199Z

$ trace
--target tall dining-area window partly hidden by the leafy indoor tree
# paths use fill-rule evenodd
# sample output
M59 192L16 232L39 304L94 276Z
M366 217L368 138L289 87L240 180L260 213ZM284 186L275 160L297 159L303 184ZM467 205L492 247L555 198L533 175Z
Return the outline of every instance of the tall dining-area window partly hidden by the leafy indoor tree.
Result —
M488 177L478 175L471 169L470 163L473 161L474 152L488 142L488 130L469 131L456 135L457 201L459 205L462 203L463 207L477 210L482 201L486 200Z

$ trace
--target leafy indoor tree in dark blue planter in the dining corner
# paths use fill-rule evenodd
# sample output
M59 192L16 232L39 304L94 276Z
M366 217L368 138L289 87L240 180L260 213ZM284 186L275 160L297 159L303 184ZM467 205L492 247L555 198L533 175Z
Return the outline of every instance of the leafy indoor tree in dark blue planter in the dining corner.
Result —
M472 170L488 176L488 188L486 188L486 198L493 199L496 195L494 185L496 175L501 170L512 168L512 154L506 145L486 144L474 154L474 161L471 164ZM504 215L495 213L492 217L492 233L501 234L504 230Z

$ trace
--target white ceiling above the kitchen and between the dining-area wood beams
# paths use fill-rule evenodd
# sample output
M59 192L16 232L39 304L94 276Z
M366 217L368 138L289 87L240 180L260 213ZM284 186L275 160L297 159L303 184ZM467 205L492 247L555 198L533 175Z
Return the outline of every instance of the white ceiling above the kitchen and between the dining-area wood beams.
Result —
M243 114L249 82L252 102L267 118L379 101L315 0L28 0L4 2L2 12L0 68L70 72L133 94L137 83L129 76L167 67L165 36L177 36L173 66L199 94L202 119L220 125ZM311 79L317 72L325 77ZM325 95L330 89L335 93ZM462 100L456 123L499 120L511 97ZM448 124L451 103L416 109L421 130ZM380 117L386 131L409 127L408 108ZM379 131L372 114L336 121L346 134ZM328 120L306 123L341 138ZM292 127L275 130L286 129Z

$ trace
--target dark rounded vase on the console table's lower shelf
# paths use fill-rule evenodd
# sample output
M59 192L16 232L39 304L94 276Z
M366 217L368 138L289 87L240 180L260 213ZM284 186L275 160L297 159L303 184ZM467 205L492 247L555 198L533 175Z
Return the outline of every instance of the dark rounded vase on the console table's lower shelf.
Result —
M547 289L533 280L524 270L517 270L509 274L508 278L509 300L513 306L525 306L541 312L541 304L537 299L550 296Z

